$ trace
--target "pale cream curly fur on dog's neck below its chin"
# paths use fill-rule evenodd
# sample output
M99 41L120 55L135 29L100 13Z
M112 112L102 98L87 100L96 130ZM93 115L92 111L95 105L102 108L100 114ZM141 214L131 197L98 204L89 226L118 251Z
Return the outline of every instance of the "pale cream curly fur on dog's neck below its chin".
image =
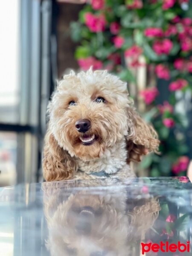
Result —
M105 172L110 175L118 172L126 165L126 158L126 141L123 139L113 147L108 148L102 157L88 161L77 159L78 170L87 174Z

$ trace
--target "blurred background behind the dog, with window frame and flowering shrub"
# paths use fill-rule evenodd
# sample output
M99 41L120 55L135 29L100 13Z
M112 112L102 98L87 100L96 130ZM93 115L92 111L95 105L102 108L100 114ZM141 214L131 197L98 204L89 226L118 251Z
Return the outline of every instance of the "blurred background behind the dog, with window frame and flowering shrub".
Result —
M192 158L189 0L0 1L0 186L42 181L46 109L55 81L108 69L128 82L160 153L138 176L183 176Z

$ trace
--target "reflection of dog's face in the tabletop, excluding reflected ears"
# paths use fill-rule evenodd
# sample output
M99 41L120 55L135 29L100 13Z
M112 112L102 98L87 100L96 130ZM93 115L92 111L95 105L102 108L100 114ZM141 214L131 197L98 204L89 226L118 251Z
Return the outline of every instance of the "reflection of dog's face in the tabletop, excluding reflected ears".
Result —
M127 255L124 201L117 195L88 195L85 191L70 195L47 219L51 255Z

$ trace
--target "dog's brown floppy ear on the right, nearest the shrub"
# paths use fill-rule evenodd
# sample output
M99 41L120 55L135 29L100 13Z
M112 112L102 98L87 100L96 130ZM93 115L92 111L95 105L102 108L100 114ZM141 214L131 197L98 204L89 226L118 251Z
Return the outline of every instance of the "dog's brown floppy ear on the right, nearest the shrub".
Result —
M133 108L127 109L127 124L128 163L140 162L143 154L158 151L160 141L157 132L151 125L146 124Z

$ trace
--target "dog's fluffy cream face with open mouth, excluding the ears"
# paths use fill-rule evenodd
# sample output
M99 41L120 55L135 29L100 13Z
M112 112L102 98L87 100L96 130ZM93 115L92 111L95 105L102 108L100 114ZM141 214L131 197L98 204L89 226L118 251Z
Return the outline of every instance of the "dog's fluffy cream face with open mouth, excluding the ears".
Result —
M126 83L103 71L71 72L49 105L50 129L61 148L79 158L100 157L128 134Z

